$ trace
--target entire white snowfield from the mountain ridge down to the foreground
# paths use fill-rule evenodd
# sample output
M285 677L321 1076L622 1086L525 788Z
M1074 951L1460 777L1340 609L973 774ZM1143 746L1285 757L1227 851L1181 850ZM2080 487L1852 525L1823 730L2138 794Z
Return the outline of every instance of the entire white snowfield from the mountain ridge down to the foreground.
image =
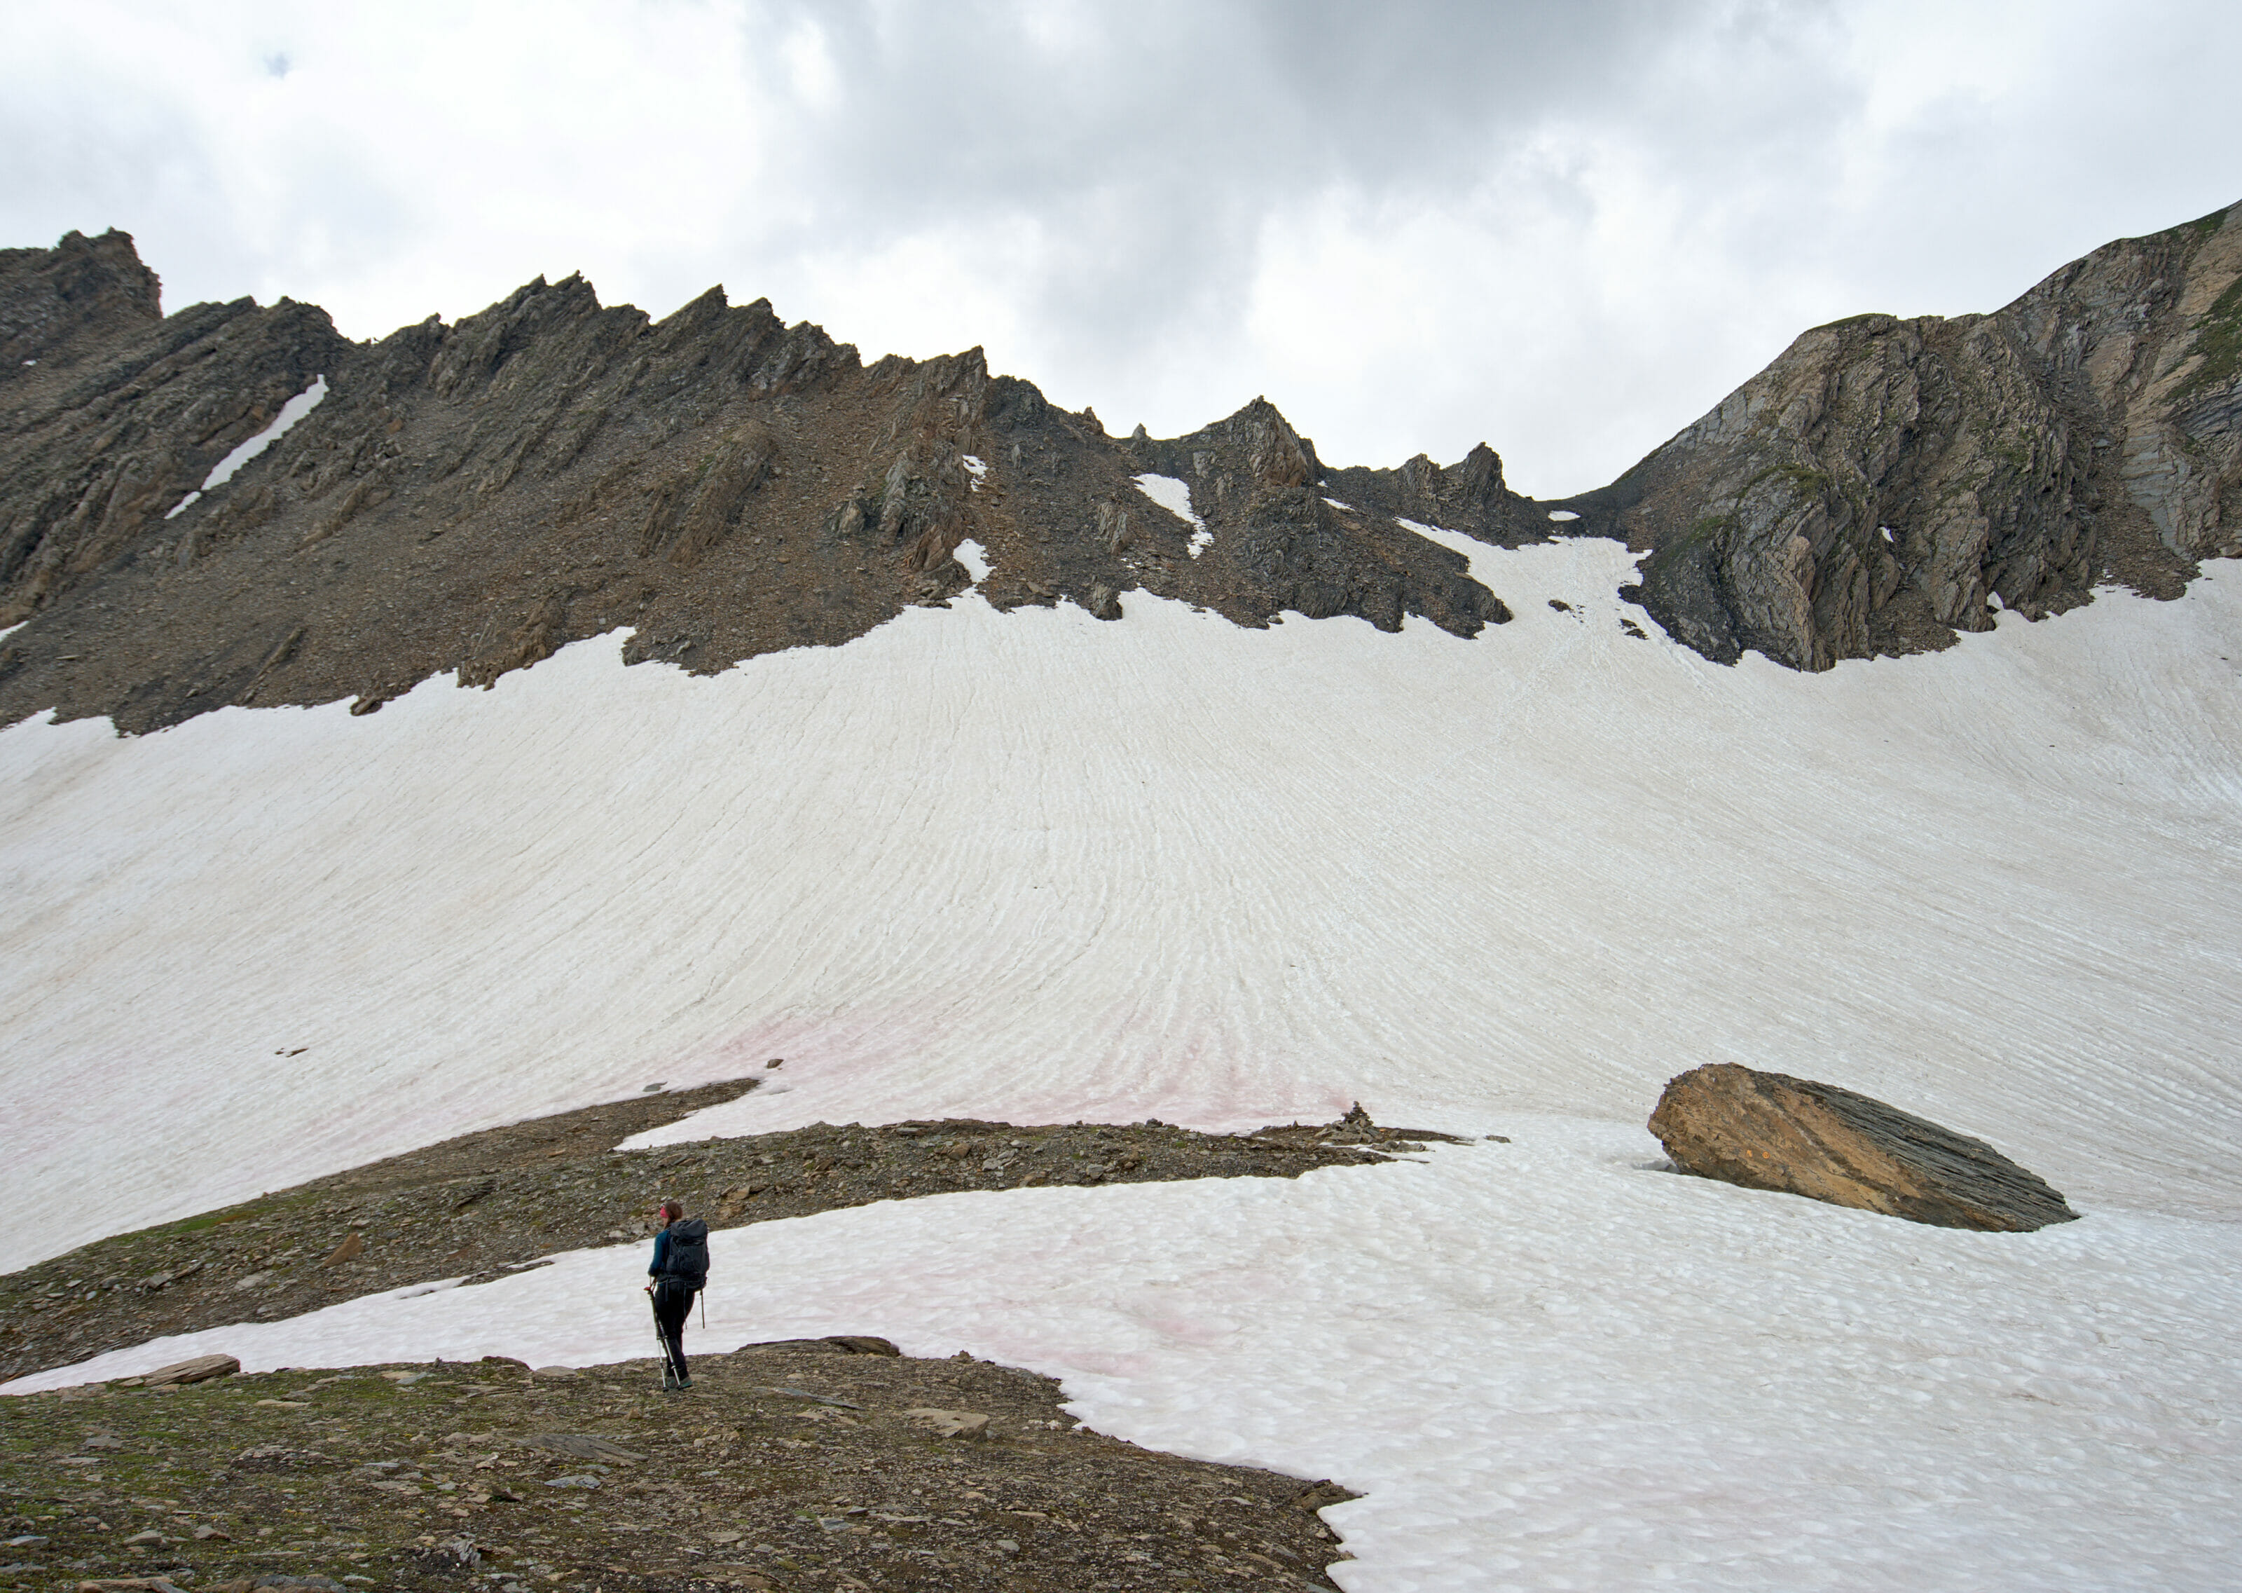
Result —
M1103 1431L1361 1490L1350 1593L2233 1586L2242 568L1798 675L1659 637L1616 545L1435 536L1513 624L966 595L711 680L603 637L370 718L0 731L0 1268L769 1057L648 1140L1361 1099L1511 1142L765 1223L691 1346L1063 1375ZM1706 1061L1986 1138L2085 1218L1659 1171ZM648 1355L641 1270L11 1389Z

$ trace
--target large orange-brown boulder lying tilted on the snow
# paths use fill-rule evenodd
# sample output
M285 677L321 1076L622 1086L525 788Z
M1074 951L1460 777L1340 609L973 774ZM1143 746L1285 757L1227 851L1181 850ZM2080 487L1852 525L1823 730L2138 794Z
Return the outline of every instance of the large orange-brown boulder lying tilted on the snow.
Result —
M1650 1133L1686 1173L1912 1223L2013 1234L2078 1216L1984 1140L1785 1072L1690 1068L1666 1084Z

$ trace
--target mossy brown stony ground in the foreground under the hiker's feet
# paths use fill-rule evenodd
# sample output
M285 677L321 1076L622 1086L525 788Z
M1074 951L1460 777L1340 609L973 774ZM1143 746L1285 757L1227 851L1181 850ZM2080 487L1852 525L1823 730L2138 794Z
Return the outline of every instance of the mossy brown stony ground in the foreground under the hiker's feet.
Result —
M1092 1434L870 1339L276 1371L0 1400L0 1586L1330 1589L1330 1483ZM888 1351L888 1353L881 1353Z

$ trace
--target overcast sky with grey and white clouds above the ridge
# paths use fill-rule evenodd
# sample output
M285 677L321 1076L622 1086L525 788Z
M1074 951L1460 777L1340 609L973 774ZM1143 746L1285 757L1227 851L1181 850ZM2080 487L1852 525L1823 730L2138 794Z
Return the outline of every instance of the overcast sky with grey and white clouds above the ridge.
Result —
M1991 310L2242 200L2242 7L538 0L0 7L0 245L379 337L583 271L1110 431L1585 489L1798 330Z

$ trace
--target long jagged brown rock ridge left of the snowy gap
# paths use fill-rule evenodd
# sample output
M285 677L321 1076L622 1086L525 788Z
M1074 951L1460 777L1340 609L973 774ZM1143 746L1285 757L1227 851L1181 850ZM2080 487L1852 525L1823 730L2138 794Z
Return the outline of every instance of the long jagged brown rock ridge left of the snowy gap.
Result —
M1256 626L1504 617L1455 552L1332 509L1269 404L1146 440L1204 460L1177 473L1220 536L1191 556L1193 527L1132 485L1157 469L1137 442L980 350L865 366L765 301L711 289L650 321L574 276L379 343L291 303L159 319L155 292L121 233L0 256L0 330L47 350L0 375L0 626L29 621L0 642L0 722L372 711L617 626L630 662L717 671L953 599L969 538L998 608L1119 619L1146 590ZM325 399L197 496L316 377ZM1500 462L1417 478L1500 496Z

